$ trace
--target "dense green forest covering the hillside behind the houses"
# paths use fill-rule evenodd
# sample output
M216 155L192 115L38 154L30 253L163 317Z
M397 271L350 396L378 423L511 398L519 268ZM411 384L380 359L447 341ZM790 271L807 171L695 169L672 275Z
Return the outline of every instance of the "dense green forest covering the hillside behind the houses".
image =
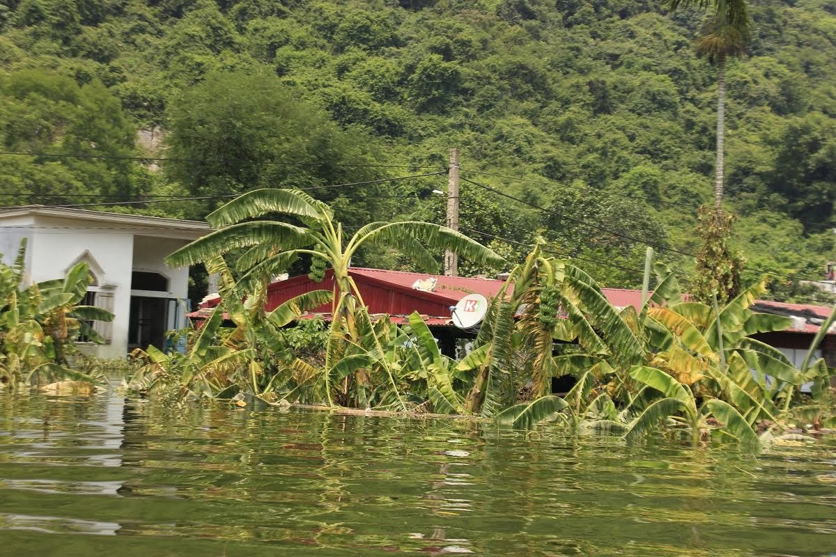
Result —
M823 278L836 238L836 2L750 15L726 70L726 208L746 281L775 271L773 297L809 300L793 278ZM645 0L2 0L0 205L202 218L296 186L349 226L443 223L457 147L462 231L512 260L542 236L637 286L647 245L693 269L712 199L702 18Z

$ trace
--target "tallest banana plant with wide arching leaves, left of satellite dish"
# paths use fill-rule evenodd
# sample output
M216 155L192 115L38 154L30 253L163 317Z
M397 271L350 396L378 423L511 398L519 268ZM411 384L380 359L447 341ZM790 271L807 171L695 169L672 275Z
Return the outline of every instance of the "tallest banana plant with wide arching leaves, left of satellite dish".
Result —
M284 220L249 220L268 214L294 217L301 225ZM298 256L310 256L311 276L321 280L324 266L334 270L334 307L324 366L324 392L333 404L334 380L342 382L339 393L350 404L365 406L369 374L364 368L381 370L395 405L405 409L395 378L395 369L385 357L385 341L372 325L369 311L349 274L350 261L359 249L372 244L395 246L426 271L438 271L431 250L451 250L472 261L501 265L504 261L482 246L446 226L419 221L378 221L365 225L354 235L344 235L334 220L334 211L301 190L254 190L241 195L207 217L220 230L194 241L166 259L171 266L217 261L217 256L248 248L238 256L236 266L242 276L237 292L266 291L270 276L286 271ZM263 311L259 296L250 296L252 311ZM359 351L359 352L358 352ZM349 394L353 393L353 394Z

